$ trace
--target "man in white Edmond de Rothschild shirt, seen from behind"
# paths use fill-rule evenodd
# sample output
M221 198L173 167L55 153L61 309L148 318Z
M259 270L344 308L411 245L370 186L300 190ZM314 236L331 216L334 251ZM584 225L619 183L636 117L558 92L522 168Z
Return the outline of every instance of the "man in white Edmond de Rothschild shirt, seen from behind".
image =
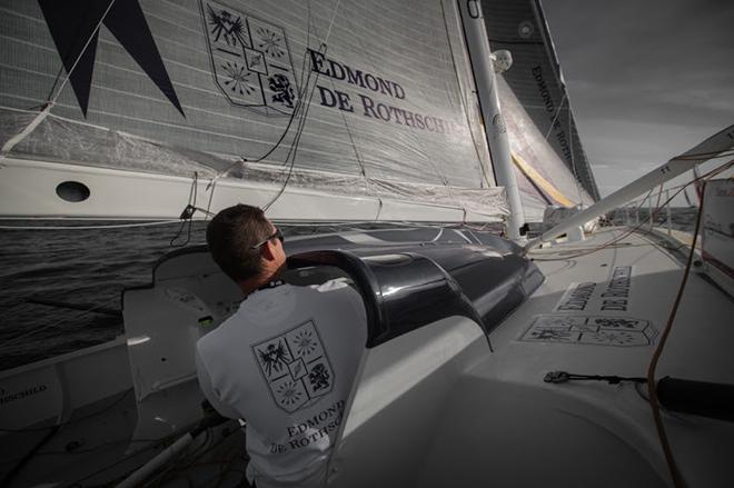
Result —
M259 208L220 211L207 242L246 298L197 342L201 390L221 415L247 422L251 485L324 486L366 341L361 298L344 280L282 283L284 237Z

